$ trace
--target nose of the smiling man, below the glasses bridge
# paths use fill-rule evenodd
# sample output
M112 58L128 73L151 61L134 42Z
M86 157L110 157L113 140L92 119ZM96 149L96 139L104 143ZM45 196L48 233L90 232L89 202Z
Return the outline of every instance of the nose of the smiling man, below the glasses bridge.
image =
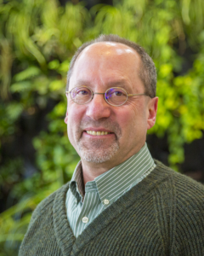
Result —
M111 115L111 105L105 102L105 96L94 94L94 98L88 103L87 116L94 120L109 118Z

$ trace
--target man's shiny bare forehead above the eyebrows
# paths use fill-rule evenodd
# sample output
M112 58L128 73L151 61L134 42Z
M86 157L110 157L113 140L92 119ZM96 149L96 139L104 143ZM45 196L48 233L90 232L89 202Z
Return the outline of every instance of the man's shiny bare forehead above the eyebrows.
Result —
M77 80L98 83L109 80L139 79L139 54L125 44L103 42L91 44L77 57L71 74L70 85Z

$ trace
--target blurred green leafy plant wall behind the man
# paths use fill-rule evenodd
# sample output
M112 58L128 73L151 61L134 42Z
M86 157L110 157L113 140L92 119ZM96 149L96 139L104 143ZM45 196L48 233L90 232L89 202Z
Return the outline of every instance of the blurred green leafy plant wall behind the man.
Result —
M204 1L0 0L0 255L18 254L31 212L77 165L66 73L76 49L101 33L141 44L156 63L151 154L179 172L199 160L203 168Z

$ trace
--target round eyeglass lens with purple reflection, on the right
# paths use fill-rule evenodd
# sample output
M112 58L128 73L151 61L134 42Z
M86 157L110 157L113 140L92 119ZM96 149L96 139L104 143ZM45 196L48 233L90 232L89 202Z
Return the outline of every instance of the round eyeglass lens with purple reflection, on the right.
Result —
M122 88L110 88L105 92L105 100L113 106L121 106L127 102L127 92Z

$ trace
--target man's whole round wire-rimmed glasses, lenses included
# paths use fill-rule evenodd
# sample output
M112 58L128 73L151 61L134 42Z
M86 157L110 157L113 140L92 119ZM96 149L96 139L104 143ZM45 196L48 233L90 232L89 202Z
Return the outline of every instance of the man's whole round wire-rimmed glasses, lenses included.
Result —
M65 92L66 94L70 93L71 100L76 102L79 105L87 104L91 102L94 98L94 94L102 94L105 96L105 102L111 106L122 106L127 102L128 97L131 96L149 96L145 93L142 94L127 94L127 91L120 87L112 87L103 92L94 92L87 86L75 87L69 91Z

